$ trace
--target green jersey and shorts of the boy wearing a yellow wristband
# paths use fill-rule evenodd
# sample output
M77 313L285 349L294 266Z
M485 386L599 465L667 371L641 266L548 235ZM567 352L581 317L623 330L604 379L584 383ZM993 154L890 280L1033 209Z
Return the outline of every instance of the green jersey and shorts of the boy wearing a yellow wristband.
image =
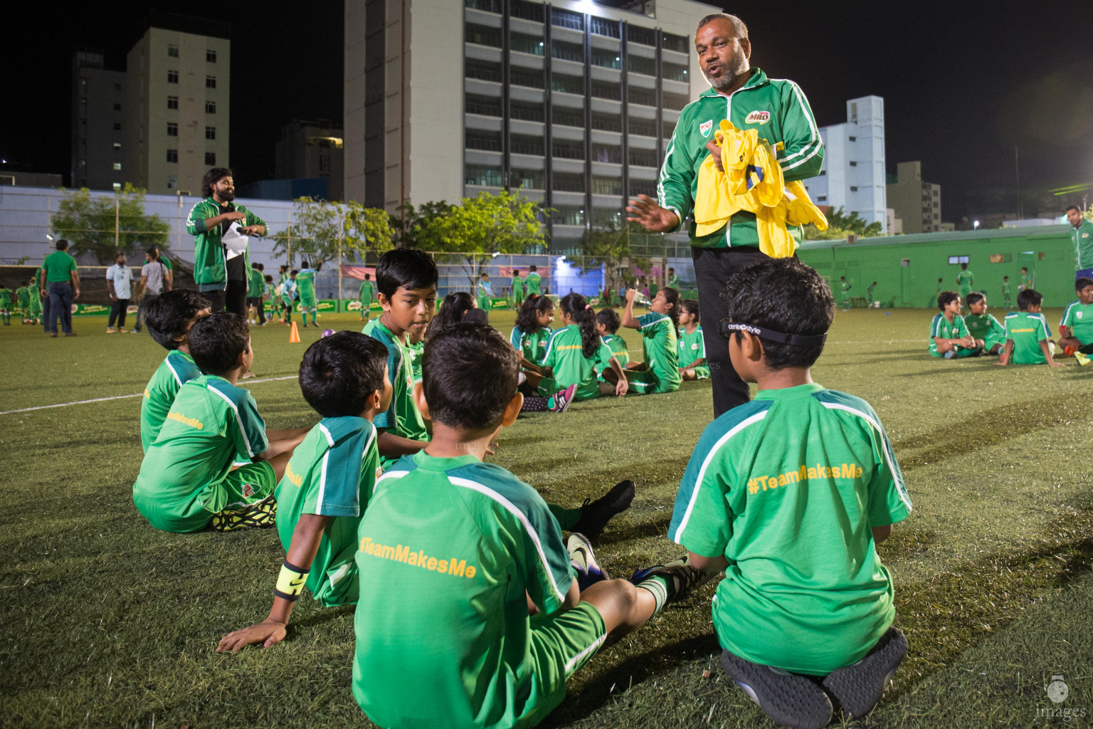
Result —
M325 607L356 602L356 532L380 473L372 423L324 418L292 451L277 486L277 530L285 552L302 514L332 517L306 583Z

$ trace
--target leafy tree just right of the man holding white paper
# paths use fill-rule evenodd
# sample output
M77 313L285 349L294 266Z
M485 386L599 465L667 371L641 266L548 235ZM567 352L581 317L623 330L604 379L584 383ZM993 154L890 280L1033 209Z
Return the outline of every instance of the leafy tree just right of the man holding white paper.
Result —
M295 201L295 223L274 233L273 254L309 262L327 262L339 257L364 260L392 247L390 221L385 211L360 202L327 202L299 198Z

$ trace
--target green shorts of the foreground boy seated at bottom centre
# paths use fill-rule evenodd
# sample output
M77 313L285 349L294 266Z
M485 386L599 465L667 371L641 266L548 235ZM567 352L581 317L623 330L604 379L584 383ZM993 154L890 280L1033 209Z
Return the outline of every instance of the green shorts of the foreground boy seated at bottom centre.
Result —
M590 602L531 618L531 694L514 727L533 727L565 698L565 681L587 663L607 638L603 618Z

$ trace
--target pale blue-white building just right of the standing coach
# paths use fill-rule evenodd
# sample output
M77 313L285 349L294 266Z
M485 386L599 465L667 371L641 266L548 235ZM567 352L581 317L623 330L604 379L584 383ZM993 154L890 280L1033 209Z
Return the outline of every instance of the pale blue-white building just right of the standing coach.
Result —
M821 127L824 155L816 177L804 180L818 205L843 208L891 230L885 215L884 99L862 96L846 103L846 121Z

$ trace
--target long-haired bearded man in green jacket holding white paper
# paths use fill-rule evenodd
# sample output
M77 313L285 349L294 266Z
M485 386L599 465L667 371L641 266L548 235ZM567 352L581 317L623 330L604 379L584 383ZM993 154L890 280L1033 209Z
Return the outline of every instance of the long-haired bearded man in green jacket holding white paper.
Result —
M208 198L193 205L186 231L193 236L193 281L212 310L247 316L247 238L269 233L266 222L235 200L232 171L213 167L202 183Z

